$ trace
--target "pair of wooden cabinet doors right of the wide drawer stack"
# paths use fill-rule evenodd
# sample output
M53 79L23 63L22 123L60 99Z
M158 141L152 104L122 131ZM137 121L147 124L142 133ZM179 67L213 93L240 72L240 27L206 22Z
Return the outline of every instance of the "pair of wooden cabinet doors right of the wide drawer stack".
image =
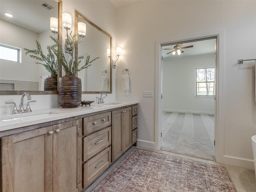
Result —
M132 107L112 111L112 162L132 146Z

